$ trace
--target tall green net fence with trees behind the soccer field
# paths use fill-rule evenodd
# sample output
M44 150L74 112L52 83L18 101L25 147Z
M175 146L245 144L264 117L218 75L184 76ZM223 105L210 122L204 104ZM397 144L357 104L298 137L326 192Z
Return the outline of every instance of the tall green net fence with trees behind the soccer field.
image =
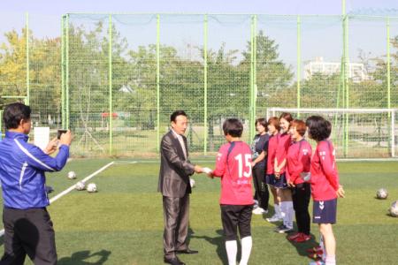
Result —
M241 118L250 141L256 117L276 107L301 118L336 109L325 115L339 157L389 157L397 148L396 17L67 14L58 21L51 27L61 34L50 37L40 33L50 21L35 17L1 32L0 109L25 101L34 126L71 128L74 155L157 156L174 110L188 113L190 152L207 155L224 142L226 118Z

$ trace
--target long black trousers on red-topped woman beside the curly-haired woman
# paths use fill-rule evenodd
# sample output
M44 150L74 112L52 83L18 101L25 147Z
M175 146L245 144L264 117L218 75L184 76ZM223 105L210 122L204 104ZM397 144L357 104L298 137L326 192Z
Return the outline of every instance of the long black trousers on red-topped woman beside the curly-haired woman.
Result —
M310 183L297 184L293 189L293 207L295 208L295 222L297 229L306 235L310 235Z

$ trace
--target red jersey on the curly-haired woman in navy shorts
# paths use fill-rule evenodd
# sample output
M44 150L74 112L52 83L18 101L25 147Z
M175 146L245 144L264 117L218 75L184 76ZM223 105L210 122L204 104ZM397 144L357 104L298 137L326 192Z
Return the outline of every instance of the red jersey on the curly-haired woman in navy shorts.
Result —
M339 173L337 172L335 150L332 142L322 140L311 160L311 193L314 201L328 201L337 198Z

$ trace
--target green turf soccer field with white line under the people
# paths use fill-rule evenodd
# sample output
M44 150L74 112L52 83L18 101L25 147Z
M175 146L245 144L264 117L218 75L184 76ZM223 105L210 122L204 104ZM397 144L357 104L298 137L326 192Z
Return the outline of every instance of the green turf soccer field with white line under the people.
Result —
M48 185L61 193L78 180L110 163L73 160L61 172L48 174ZM195 160L193 161L195 163ZM200 163L213 167L213 162ZM398 200L397 162L338 163L346 198L338 203L339 264L397 264L398 218L387 208ZM57 239L58 264L163 264L162 197L157 193L157 161L114 164L88 182L98 193L67 193L49 207ZM67 179L74 170L78 178ZM219 180L194 175L190 206L190 247L199 254L180 254L187 264L227 264L218 206ZM376 200L379 187L387 200ZM310 206L311 207L311 206ZM272 215L272 208L267 216ZM273 231L267 216L253 216L253 249L249 264L308 264L305 249L318 242L318 227L309 243L292 244ZM3 253L3 238L0 240ZM27 261L26 264L32 264Z

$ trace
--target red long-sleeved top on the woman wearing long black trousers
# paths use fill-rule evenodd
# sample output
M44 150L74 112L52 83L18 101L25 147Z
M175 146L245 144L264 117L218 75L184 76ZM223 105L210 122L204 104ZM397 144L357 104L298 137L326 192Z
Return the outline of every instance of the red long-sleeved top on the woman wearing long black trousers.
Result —
M310 172L312 148L306 140L294 141L287 150L288 178L294 184L301 184L304 180L300 177L302 172Z

